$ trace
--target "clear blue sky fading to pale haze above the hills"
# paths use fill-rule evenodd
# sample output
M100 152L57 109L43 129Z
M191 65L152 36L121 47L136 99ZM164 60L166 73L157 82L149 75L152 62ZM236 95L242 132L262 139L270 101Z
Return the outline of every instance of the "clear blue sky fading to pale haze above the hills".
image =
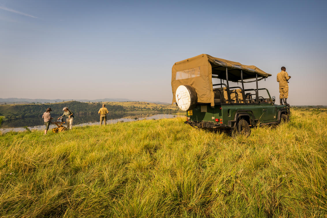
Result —
M0 98L171 102L171 68L209 54L272 74L259 88L327 105L327 1L0 0ZM253 83L253 87L255 83Z

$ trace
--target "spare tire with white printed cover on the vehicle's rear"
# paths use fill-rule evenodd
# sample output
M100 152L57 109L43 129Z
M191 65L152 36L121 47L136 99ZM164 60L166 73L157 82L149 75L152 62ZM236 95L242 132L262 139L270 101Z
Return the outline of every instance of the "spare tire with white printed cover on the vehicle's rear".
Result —
M176 103L181 110L187 111L195 107L198 102L198 95L190 85L180 85L175 94Z

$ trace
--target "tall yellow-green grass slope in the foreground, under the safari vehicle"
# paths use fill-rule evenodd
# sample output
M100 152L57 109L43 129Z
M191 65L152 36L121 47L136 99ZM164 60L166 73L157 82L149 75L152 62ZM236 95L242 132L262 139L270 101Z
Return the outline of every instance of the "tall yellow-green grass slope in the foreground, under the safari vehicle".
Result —
M2 217L326 217L327 115L250 137L182 118L0 140Z

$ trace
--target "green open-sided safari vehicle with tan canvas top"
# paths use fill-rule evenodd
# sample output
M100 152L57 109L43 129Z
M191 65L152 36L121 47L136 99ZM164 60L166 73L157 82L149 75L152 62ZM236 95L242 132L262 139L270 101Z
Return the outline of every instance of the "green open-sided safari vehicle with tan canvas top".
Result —
M187 111L185 123L193 127L249 135L253 126L289 121L289 105L275 105L275 96L258 88L258 81L269 76L253 65L198 55L173 65L172 103ZM255 87L245 89L249 82Z

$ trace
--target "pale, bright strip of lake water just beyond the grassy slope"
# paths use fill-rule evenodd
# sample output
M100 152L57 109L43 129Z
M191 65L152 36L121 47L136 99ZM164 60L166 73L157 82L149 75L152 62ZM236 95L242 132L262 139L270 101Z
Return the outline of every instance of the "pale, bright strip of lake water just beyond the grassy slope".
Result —
M138 115L138 116L133 116L133 115L129 115L123 118L118 118L118 119L110 119L107 120L107 125L108 124L114 124L114 123L118 123L118 122L131 122L131 121L137 121L137 120L159 120L159 119L167 119L167 118L175 118L178 117L178 115L171 115L171 114L151 114L151 115ZM55 119L55 118L54 118ZM109 119L109 117L107 116L107 119ZM64 121L66 119L63 119ZM100 125L99 123L100 118L98 117L98 120L95 121L93 119L93 121L91 122L82 122L82 119L78 119L77 122L75 122L75 117L74 117L74 122L73 122L73 128L74 126L92 126L92 125ZM26 124L26 126L28 126ZM64 124L64 126L66 126ZM49 127L49 130L51 130L52 128L57 127L55 124L51 124ZM30 130L44 130L45 129L45 125L37 125L37 126L28 126L28 128ZM2 133L6 133L9 131L15 131L15 132L20 132L20 131L26 131L26 129L22 126L20 127L12 127L12 128L1 128L0 129Z

